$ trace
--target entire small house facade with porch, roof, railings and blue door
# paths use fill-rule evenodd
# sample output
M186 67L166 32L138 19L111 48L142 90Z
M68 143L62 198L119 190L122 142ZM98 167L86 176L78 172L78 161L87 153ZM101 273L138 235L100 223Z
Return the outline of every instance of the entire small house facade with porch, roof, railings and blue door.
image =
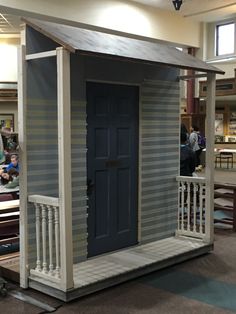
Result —
M21 286L71 300L211 250L221 71L161 44L25 22ZM206 178L179 177L181 68L207 76ZM180 196L191 184L193 211Z

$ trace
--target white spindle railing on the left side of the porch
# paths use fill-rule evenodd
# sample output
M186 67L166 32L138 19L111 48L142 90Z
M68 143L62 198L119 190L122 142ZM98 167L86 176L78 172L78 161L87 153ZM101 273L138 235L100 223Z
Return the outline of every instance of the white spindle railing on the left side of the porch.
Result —
M35 207L36 267L30 273L59 282L60 268L60 213L58 198L30 195Z

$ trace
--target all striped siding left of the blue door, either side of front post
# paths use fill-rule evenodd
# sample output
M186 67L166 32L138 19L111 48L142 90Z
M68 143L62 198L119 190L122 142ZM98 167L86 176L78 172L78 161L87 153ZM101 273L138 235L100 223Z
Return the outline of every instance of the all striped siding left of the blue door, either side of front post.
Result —
M27 171L29 194L58 197L57 104L29 100L27 112ZM73 102L72 132L72 217L74 263L87 258L86 197L86 104ZM42 166L43 165L43 166ZM28 206L29 263L36 260L35 209Z

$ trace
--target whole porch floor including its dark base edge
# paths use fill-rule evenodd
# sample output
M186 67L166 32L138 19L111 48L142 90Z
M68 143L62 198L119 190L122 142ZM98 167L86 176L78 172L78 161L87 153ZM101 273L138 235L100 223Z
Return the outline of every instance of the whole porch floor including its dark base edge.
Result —
M63 292L32 276L30 286L63 301L114 286L155 270L207 253L213 245L186 237L170 237L104 254L74 265L74 289Z

